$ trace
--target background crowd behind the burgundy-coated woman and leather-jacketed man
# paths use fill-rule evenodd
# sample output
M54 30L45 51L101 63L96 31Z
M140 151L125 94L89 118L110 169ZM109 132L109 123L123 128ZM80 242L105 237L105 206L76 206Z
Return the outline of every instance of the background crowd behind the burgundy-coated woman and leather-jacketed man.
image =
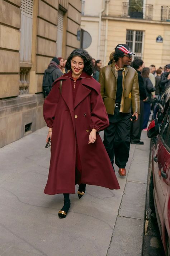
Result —
M112 64L114 52L110 54L110 61ZM62 57L54 57L48 65L48 68L44 72L43 78L43 93L44 98L49 94L53 82L63 74L67 73L66 69L67 59ZM92 73L93 78L99 82L99 74L102 67L100 59L95 60L92 58L94 65L94 71ZM145 67L145 64L141 59L135 59L131 63L131 67L138 72L138 83L140 87L140 109L141 114L137 122L132 123L131 127L131 143L143 144L140 141L141 131L147 131L148 121L151 111L154 111L153 100L155 95L161 96L164 93L167 86L170 85L170 64L167 64L164 68L152 64L150 67Z

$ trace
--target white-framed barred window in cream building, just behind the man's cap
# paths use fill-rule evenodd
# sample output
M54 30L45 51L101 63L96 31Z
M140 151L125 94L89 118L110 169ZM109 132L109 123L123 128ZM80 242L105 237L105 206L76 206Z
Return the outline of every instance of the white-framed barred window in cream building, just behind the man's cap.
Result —
M132 60L142 59L142 54L143 54L143 31L127 30L126 44L132 49L132 51L134 53L136 53L134 56L132 56Z

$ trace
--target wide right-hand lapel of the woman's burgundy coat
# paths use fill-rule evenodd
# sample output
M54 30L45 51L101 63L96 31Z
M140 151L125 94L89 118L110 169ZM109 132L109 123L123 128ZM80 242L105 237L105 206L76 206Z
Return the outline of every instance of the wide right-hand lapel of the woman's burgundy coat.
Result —
M82 100L84 100L91 93L91 90L84 86L87 84L87 79L89 80L90 78L82 78L81 83L77 88L77 93L74 100L74 108L76 108L77 105L79 105Z

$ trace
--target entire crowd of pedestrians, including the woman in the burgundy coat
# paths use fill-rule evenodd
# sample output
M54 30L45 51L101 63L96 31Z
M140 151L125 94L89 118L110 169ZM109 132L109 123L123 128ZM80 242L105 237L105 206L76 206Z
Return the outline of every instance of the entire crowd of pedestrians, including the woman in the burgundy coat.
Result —
M86 184L119 189L114 161L126 176L130 143L141 142L154 98L170 85L170 64L145 67L126 44L118 44L107 66L83 49L68 59L54 57L44 72L44 119L52 139L46 194L63 193L66 217L70 193L84 196ZM104 141L99 131L104 130Z

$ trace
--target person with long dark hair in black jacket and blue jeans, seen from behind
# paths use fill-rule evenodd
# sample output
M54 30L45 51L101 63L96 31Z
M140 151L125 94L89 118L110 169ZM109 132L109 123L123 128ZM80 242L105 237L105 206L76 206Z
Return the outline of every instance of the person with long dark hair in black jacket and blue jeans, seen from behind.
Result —
M143 129L147 129L147 123L149 121L151 103L152 103L152 91L155 91L156 88L153 86L151 80L149 79L149 68L143 68L142 77L143 85L146 90L147 100L144 101L144 117L143 117Z

